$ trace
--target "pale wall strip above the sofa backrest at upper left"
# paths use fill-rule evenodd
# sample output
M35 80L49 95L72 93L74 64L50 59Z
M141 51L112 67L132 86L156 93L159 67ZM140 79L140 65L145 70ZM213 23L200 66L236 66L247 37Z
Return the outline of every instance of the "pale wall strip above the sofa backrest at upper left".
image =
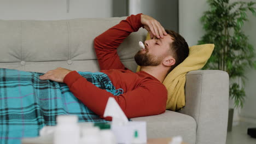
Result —
M111 16L112 0L0 0L2 20L60 20Z

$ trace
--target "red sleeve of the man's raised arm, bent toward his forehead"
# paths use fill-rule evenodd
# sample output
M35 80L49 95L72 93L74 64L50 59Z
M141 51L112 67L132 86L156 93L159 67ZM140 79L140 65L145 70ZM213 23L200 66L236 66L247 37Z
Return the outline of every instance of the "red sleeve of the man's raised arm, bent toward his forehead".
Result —
M101 70L125 69L118 56L117 48L130 33L137 32L143 26L141 15L131 15L95 38L94 47Z

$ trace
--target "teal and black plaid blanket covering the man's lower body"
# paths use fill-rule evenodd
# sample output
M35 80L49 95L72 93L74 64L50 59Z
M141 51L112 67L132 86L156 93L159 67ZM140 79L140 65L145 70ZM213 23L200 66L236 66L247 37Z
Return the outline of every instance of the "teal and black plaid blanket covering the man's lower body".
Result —
M104 73L78 72L95 86L119 95ZM74 97L65 83L40 80L43 73L0 68L0 143L35 137L57 115L77 115L79 122L106 122Z

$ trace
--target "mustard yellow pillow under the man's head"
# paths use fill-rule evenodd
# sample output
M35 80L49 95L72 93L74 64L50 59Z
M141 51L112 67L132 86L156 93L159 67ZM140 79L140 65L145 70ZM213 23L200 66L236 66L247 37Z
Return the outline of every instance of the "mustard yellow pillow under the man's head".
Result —
M150 39L149 34L147 39ZM191 70L201 69L211 57L213 49L214 44L190 46L189 56L165 77L162 83L168 92L167 110L177 111L185 106L185 75ZM140 69L138 66L137 71Z

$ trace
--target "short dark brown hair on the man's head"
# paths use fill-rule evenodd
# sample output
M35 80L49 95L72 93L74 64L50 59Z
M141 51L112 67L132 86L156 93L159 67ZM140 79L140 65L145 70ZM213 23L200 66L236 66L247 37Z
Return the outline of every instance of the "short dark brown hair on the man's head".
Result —
M170 73L177 65L182 63L185 58L188 57L189 54L189 46L185 39L179 35L178 33L165 29L166 33L171 35L172 37L172 44L171 44L171 53L173 53L173 57L175 59L175 64L171 66L168 73Z

